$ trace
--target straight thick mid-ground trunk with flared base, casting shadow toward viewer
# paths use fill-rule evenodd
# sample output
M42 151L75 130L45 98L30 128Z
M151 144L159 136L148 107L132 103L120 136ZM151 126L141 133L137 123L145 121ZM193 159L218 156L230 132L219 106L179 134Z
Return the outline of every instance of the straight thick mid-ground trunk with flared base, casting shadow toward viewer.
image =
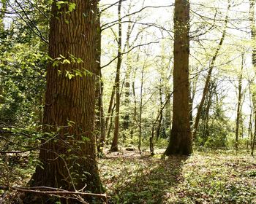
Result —
M189 1L174 9L173 125L165 155L192 153L189 124Z

